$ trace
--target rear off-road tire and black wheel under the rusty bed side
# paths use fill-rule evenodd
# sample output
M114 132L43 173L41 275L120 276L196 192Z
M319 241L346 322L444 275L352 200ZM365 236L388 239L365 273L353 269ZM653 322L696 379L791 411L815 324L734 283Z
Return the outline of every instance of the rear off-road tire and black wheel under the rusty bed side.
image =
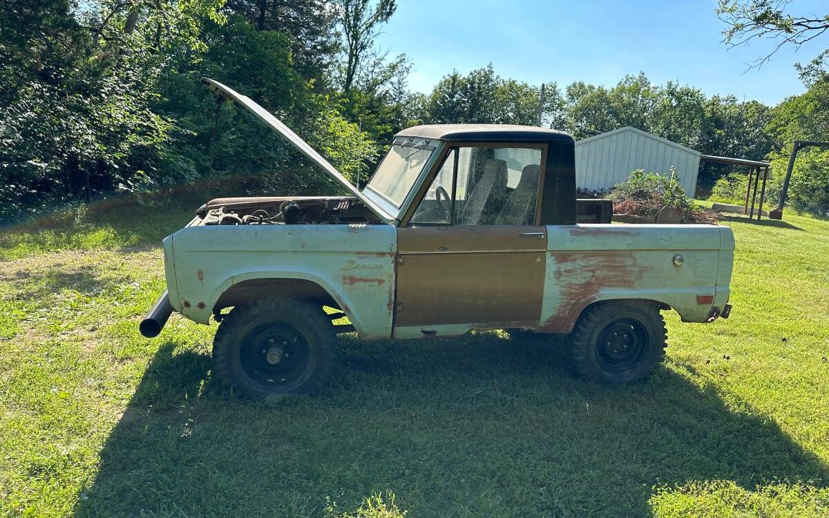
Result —
M634 345L641 350L633 351ZM647 301L595 303L570 334L574 369L583 380L598 383L644 380L665 358L666 346L665 320Z

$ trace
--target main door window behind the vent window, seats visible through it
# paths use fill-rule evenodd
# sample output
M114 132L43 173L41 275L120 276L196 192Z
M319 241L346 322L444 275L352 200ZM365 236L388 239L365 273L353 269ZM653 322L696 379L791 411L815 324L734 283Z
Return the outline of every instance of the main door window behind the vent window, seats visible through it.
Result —
M461 148L458 157L454 225L532 225L541 149Z

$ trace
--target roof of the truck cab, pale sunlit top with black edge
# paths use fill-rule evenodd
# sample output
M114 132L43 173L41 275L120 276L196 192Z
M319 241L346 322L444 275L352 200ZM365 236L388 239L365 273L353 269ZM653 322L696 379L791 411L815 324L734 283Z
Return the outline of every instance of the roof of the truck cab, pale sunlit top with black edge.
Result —
M570 135L555 129L513 124L427 124L406 128L396 136L456 142L573 142Z

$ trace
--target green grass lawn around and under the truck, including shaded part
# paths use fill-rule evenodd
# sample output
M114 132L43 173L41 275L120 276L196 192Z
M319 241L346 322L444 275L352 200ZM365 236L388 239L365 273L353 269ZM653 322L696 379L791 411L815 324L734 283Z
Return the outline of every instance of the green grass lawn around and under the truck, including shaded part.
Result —
M827 222L726 221L730 319L667 313L640 385L502 332L346 336L330 389L264 404L211 381L214 327L138 335L174 206L0 231L3 514L829 515Z

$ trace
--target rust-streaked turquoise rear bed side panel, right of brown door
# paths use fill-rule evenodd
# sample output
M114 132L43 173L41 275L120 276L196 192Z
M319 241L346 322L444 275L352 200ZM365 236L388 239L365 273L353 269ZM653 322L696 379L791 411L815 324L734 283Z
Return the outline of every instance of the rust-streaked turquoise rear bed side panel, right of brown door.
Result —
M734 237L712 225L549 225L541 330L570 332L600 300L654 300L705 322L729 297ZM725 236L725 237L724 237ZM721 249L722 247L722 249ZM685 259L674 262L676 254ZM719 265L725 264L722 273ZM697 295L714 295L698 304Z

